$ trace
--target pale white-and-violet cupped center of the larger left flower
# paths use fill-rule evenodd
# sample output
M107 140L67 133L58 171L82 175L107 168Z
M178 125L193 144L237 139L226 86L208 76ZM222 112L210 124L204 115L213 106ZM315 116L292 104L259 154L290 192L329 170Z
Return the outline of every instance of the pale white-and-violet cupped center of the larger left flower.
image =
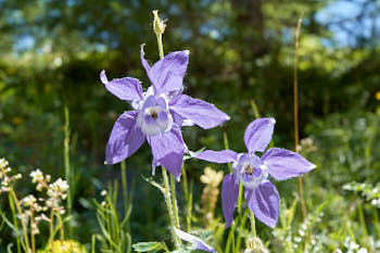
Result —
M148 136L170 130L173 117L165 98L148 96L138 107L137 125Z

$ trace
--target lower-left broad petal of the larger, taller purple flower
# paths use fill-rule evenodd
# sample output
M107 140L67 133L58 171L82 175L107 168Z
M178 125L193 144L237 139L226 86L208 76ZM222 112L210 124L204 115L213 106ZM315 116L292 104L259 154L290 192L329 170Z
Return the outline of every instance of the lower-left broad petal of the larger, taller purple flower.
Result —
M136 117L137 113L129 111L117 118L105 148L105 163L119 163L141 147L145 136L137 127Z

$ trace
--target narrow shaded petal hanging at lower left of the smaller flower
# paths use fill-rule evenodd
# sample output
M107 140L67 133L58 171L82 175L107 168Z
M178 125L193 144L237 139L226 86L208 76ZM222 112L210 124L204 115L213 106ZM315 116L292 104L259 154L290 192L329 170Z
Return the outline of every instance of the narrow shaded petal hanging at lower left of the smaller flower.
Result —
M221 185L221 208L226 219L225 228L231 226L233 222L233 211L239 197L239 181L233 174L228 174L223 179Z

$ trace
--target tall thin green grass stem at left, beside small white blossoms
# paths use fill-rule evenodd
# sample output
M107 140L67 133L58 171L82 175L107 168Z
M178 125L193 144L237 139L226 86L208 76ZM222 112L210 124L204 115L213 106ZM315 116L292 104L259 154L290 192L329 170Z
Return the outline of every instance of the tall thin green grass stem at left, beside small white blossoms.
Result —
M65 126L64 126L64 132L65 132L65 139L63 141L63 156L64 156L64 165L65 165L65 179L68 185L67 189L67 215L72 215L72 172L71 172L71 166L69 166L69 112L68 107L65 106ZM68 223L68 236L69 238L73 238L73 228L71 226L71 223Z

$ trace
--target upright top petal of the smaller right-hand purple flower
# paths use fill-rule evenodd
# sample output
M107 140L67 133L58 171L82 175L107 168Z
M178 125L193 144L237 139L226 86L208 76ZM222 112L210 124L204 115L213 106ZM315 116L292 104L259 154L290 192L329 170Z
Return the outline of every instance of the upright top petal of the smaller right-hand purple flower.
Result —
M276 121L271 117L262 117L253 121L245 129L244 142L246 149L254 153L264 152L274 134Z

